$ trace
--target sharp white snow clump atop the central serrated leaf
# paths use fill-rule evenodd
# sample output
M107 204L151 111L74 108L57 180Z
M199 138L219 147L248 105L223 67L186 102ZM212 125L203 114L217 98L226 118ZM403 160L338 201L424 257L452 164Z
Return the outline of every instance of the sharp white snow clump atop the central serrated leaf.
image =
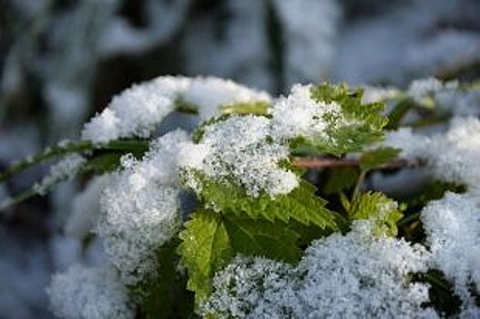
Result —
M296 175L279 166L281 160L289 159L290 149L270 138L269 118L231 117L205 127L199 144L182 149L179 165L214 180L233 179L251 196L262 190L272 196L285 194L298 186ZM187 184L195 188L195 176L187 175Z

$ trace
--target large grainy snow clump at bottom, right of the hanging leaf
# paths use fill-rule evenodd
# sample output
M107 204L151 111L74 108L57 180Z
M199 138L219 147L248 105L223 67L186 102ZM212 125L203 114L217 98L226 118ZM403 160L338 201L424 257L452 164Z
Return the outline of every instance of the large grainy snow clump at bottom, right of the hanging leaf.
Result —
M221 318L435 318L428 285L409 282L427 270L421 245L373 237L370 221L312 242L296 266L238 257L213 282L202 314Z

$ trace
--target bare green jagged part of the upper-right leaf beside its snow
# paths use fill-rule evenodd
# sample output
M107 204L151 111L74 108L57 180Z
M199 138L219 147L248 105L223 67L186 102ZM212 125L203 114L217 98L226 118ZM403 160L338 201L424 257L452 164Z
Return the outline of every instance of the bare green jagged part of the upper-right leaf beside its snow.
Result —
M346 121L329 115L329 139L309 141L318 152L341 155L360 151L366 144L383 139L383 127L388 119L381 115L383 103L362 104L362 89L351 90L344 85L322 84L311 88L311 97L319 102L338 103Z

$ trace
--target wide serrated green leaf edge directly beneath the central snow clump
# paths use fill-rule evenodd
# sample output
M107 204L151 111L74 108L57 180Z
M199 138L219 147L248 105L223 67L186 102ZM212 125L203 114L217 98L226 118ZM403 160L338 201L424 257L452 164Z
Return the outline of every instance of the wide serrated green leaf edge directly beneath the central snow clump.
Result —
M249 196L233 182L199 177L199 198L209 207L226 213L268 221L299 221L321 229L338 231L340 216L325 208L326 201L315 195L316 188L305 180L289 194L272 198L268 194Z

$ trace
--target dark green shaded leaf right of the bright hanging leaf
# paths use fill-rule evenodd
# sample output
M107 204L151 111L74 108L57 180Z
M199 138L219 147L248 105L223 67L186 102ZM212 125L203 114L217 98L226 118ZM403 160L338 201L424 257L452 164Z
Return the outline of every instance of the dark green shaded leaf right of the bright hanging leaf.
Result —
M281 222L252 220L226 216L225 227L235 252L264 256L282 262L298 262L301 250L297 246L299 234Z

